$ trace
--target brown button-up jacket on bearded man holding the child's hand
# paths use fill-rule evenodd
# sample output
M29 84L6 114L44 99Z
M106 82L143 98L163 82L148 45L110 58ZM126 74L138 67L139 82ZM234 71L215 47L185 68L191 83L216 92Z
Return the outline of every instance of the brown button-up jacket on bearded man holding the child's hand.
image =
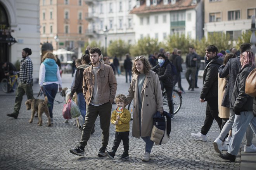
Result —
M100 62L100 69L97 73L97 85L100 104L113 102L116 95L116 77L111 66ZM94 76L92 65L87 67L83 72L83 96L87 105L92 99L94 86Z

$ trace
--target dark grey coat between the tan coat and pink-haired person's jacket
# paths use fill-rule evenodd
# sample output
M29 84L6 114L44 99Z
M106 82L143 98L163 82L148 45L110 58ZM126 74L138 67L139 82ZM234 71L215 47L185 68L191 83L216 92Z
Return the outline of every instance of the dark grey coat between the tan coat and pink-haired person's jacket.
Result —
M224 78L229 75L226 90L223 96L221 106L230 107L232 92L235 86L235 79L241 68L240 57L230 58L226 65L221 65L219 68L219 77Z

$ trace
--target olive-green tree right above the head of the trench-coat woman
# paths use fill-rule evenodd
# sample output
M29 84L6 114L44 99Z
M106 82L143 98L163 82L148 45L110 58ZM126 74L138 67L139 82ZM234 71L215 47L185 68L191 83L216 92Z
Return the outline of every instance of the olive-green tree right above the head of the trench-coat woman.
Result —
M137 44L130 48L131 56L150 55L159 51L158 39L150 38L149 36L139 39Z

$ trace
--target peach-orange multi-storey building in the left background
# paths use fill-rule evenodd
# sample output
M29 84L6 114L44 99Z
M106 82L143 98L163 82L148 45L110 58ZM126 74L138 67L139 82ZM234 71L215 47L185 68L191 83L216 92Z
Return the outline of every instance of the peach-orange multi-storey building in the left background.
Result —
M81 53L85 53L81 48L87 41L87 11L85 0L40 0L41 43L48 41L54 50L70 50L80 58ZM71 60L71 57L65 60Z

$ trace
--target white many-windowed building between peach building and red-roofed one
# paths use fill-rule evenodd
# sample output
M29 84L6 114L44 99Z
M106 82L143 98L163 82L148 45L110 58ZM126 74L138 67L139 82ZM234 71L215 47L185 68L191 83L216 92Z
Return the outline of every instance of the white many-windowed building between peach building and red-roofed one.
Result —
M103 46L117 39L135 42L133 15L129 13L136 0L85 0L85 3L88 5L86 36L89 42L100 41Z

